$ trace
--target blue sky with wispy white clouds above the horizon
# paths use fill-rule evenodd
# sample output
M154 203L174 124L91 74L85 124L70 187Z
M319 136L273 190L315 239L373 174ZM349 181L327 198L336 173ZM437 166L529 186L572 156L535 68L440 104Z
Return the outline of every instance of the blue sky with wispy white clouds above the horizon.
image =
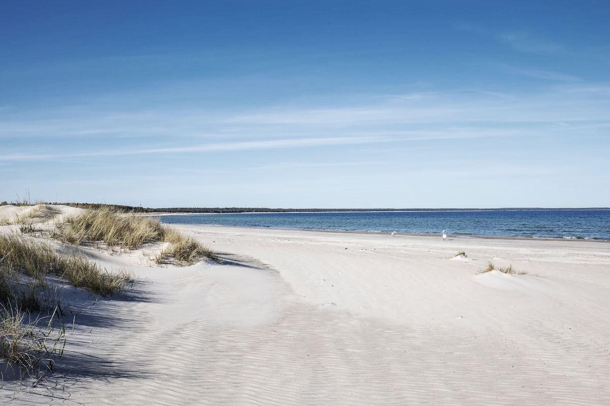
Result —
M610 206L608 1L0 1L0 201Z

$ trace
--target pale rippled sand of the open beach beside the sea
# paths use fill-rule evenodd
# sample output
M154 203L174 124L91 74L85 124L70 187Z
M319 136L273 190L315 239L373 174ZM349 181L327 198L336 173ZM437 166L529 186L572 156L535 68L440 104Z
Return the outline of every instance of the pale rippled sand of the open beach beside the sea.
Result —
M85 250L134 289L2 402L610 404L609 243L180 228L234 264ZM529 275L475 275L487 261Z

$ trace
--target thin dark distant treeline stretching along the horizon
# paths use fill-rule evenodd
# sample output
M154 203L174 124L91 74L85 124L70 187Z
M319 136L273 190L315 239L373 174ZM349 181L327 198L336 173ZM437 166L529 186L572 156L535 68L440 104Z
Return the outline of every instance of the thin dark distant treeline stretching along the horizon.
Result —
M102 203L47 203L49 205L66 205L82 209L109 208L113 211L124 213L286 213L286 212L347 212L347 211L501 211L501 210L578 210L572 209L547 209L547 208L497 208L497 209L271 209L265 207L170 207L170 208L148 208L142 206L106 205ZM586 210L608 210L609 208L585 208Z

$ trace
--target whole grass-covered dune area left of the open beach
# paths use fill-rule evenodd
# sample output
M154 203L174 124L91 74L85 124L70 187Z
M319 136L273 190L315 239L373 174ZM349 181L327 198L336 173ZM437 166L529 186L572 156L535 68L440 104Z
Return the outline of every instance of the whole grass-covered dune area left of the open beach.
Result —
M13 208L18 209L0 216L5 226L0 230L0 362L18 370L20 378L50 371L63 352L63 316L72 305L65 284L109 297L132 281L123 267L108 271L70 247L137 250L167 242L157 262L184 265L212 256L200 243L149 217L108 209L68 214L49 205ZM62 327L56 329L56 321Z

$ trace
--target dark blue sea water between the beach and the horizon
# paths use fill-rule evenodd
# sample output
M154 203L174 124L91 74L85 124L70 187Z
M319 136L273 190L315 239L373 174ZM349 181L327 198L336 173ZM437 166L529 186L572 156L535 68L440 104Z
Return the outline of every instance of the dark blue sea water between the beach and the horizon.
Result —
M455 236L610 240L610 210L307 212L162 215L162 223Z

